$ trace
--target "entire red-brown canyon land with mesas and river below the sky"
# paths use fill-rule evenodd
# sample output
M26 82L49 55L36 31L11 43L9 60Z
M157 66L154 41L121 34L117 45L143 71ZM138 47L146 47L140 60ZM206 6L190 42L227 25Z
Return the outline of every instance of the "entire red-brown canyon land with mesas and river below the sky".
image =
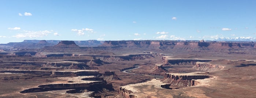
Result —
M0 45L1 98L256 96L254 42L33 41Z

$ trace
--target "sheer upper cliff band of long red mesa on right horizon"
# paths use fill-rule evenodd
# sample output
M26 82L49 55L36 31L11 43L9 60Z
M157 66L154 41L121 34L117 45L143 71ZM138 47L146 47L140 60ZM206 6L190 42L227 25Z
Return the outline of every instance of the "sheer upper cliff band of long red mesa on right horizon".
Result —
M231 48L231 47L242 47L242 48L254 48L255 44L253 42L215 42L215 41L105 41L101 46L159 46L159 47L221 47L221 48Z

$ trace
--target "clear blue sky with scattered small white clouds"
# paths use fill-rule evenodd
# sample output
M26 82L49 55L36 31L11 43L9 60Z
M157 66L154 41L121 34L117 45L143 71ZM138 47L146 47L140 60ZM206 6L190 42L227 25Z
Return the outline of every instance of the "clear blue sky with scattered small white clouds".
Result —
M0 43L256 37L256 0L0 0Z

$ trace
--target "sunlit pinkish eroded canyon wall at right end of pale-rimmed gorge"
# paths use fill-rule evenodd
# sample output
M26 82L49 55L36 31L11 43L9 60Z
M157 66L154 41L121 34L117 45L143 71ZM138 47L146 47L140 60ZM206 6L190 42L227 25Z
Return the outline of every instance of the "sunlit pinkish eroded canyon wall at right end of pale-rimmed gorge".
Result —
M222 69L223 66L209 63L196 63L196 65L194 65L193 68L199 71L217 71Z

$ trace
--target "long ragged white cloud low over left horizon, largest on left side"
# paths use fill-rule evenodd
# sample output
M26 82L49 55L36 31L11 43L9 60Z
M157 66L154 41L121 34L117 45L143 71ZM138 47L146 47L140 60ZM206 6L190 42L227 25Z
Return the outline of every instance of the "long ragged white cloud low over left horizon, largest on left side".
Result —
M37 37L43 37L43 36L47 36L49 33L51 33L50 31L23 31L25 33L20 33L17 34L15 36L12 37L16 37L16 38L37 38Z

